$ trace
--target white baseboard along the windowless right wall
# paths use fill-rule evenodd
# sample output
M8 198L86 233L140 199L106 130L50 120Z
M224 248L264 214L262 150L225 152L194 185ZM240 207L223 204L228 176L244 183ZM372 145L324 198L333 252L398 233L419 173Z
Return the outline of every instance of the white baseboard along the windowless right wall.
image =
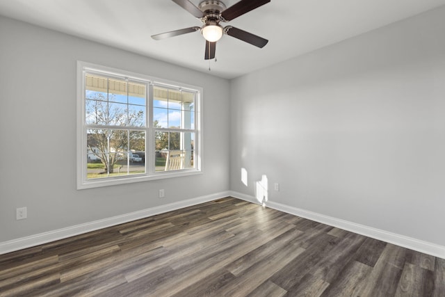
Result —
M250 195L245 195L243 193L238 193L235 191L231 191L230 195L234 198L259 204L259 202L253 196ZM284 211L288 214L293 214L294 216L300 216L302 218L307 218L309 220L315 220L318 223L323 223L333 227L338 227L340 229L354 232L357 234L362 234L364 236L368 236L373 239L378 239L381 241L385 241L387 243L393 243L397 246L402 246L403 248L409 248L410 250L416 250L418 252L423 252L428 255L445 259L445 246L439 246L435 243L430 243L428 241L421 241L419 239L414 239L412 237L387 232L385 230L380 230L365 225L356 224L353 222L349 222L348 220L341 220L339 218L334 218L332 216L317 214L312 211L307 211L305 209L298 209L296 207L290 207L289 205L273 201L266 202L266 207L270 207L271 209L277 209L279 211Z

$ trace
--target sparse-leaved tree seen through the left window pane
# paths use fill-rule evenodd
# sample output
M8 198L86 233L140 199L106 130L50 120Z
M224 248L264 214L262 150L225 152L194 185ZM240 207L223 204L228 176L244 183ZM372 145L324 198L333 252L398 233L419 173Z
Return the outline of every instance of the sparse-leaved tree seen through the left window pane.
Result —
M115 163L127 156L130 149L145 150L145 132L118 127L143 127L144 112L129 109L129 104L116 102L115 95L94 92L86 99L86 124L113 126L113 129L88 129L87 146L104 164L104 172L113 173ZM127 109L128 108L128 109Z

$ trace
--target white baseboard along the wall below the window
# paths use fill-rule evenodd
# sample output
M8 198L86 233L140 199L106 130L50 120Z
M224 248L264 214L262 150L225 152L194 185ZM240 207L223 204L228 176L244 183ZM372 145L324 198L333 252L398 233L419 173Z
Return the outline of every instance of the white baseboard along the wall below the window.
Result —
M95 220L89 223L80 225L74 225L71 227L65 227L58 230L35 234L31 236L22 237L19 239L13 239L10 241L4 241L0 243L0 255L7 252L14 252L15 250L22 250L24 248L31 248L32 246L38 246L43 243L49 243L59 239L65 239L70 236L91 232L114 225L130 222L131 220L138 220L140 218L147 218L148 216L154 216L156 214L163 214L175 209L181 209L184 207L190 207L196 204L209 202L219 198L224 198L230 195L229 191L214 193L211 195L205 195L198 198L192 198L184 201L173 202L164 204L159 207L152 207L149 209L143 209L140 211L134 211L129 214L122 214L120 216L113 216L111 218L104 218L102 220Z

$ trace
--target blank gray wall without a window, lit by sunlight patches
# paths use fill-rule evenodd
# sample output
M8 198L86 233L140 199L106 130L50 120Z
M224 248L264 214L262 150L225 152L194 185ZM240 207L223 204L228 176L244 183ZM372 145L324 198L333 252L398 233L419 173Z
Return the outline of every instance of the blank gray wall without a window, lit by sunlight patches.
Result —
M439 8L234 79L232 191L445 246L444 32Z

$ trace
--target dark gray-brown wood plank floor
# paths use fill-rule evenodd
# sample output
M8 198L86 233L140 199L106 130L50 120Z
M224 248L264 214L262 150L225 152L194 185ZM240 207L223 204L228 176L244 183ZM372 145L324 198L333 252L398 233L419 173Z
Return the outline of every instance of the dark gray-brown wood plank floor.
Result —
M445 260L235 198L0 255L0 296L445 296Z

